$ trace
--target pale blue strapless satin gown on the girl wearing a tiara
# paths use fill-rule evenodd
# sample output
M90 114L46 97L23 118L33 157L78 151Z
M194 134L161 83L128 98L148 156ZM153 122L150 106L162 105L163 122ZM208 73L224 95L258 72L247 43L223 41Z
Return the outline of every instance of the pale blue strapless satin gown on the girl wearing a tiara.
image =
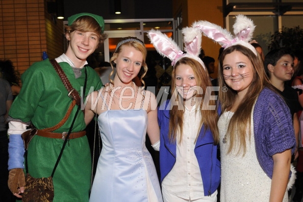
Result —
M103 148L90 202L163 201L152 156L145 146L143 109L107 110L98 117Z

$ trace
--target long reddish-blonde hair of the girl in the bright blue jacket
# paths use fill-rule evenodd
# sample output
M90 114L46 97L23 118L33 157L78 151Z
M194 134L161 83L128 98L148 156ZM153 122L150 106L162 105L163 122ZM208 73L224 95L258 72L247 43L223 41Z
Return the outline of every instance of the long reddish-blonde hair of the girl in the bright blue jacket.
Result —
M189 65L195 76L195 81L197 83L197 86L201 87L203 89L203 94L197 94L196 97L200 97L201 101L199 103L200 107L199 110L196 110L196 113L201 114L201 120L200 120L200 128L202 124L204 124L204 132L207 129L210 129L215 144L218 144L219 142L219 135L218 135L218 114L217 110L203 110L203 101L205 98L206 88L207 86L212 86L211 81L209 79L209 75L207 71L204 70L203 66L195 59L192 58L181 58L176 64L174 65L173 71L172 71L172 79L171 79L171 92L172 97L171 99L178 100L178 106L174 105L172 109L170 110L170 120L169 120L169 132L168 137L171 142L176 141L176 134L180 132L180 140L178 141L181 143L182 141L182 133L183 133L183 124L184 124L184 106L183 106L183 98L178 96L178 93L175 91L175 69L178 68L180 64L186 64ZM215 100L210 100L209 105L216 105ZM197 106L198 108L198 106ZM199 131L197 133L196 140L199 136Z

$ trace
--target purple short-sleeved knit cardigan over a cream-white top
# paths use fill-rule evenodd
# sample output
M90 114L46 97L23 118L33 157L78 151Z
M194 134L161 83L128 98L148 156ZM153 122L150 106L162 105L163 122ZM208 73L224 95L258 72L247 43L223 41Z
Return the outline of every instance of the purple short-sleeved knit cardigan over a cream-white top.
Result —
M254 108L254 133L258 161L272 178L272 155L290 148L293 153L296 140L288 106L267 87L261 91Z

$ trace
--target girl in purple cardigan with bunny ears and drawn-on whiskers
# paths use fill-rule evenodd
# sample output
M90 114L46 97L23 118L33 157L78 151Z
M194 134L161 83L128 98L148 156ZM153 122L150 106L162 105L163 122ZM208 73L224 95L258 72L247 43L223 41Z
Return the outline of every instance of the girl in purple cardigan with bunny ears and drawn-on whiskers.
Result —
M220 201L288 201L295 136L289 108L248 43L253 21L238 15L235 37L207 21L193 25L224 47L218 81L222 115Z

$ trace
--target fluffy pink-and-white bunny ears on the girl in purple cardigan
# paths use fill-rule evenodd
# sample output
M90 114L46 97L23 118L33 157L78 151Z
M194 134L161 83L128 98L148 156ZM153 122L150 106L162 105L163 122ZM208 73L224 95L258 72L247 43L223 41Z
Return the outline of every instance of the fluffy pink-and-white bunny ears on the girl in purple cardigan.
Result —
M205 20L196 21L192 27L198 28L207 37L218 42L224 49L240 44L253 51L255 55L258 55L256 49L249 43L250 39L253 38L256 26L253 20L244 15L236 16L236 21L233 26L235 37L226 29Z

